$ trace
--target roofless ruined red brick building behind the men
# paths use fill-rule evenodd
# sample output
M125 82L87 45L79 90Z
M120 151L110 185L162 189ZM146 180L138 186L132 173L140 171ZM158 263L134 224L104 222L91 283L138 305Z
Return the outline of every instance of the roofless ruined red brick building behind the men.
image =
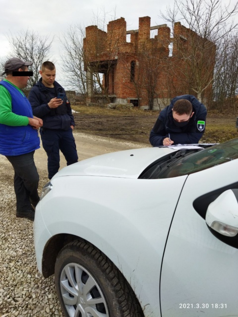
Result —
M151 38L154 30L158 33ZM83 48L88 101L99 97L94 88L99 74L100 96L150 109L163 108L176 95L201 98L211 92L215 45L180 22L174 24L173 37L166 24L151 27L149 16L139 18L137 30L127 31L123 17L109 22L107 32L91 25L86 27Z

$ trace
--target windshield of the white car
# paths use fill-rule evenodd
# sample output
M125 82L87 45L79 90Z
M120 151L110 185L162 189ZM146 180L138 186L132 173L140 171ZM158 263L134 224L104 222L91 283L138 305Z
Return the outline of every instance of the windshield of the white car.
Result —
M150 171L147 171L146 178L171 178L189 175L237 158L238 138L208 147L199 152L179 156L172 161L158 163L152 166ZM148 172L150 172L150 176Z

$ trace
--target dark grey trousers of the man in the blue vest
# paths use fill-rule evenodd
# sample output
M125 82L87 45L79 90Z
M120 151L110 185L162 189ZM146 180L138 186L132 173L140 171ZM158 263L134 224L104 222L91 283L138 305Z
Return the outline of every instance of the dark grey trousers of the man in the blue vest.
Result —
M30 199L38 201L39 174L34 162L34 152L17 156L6 156L14 168L14 190L17 212L31 209Z

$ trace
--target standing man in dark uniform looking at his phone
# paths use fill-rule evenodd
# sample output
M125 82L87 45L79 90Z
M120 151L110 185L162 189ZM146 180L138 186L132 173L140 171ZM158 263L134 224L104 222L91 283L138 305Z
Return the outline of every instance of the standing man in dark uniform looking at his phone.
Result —
M55 81L55 65L45 61L40 74L41 79L31 88L28 100L33 114L43 120L40 134L48 156L48 177L51 179L60 167L59 151L63 153L67 165L78 161L73 136L75 123L65 90Z

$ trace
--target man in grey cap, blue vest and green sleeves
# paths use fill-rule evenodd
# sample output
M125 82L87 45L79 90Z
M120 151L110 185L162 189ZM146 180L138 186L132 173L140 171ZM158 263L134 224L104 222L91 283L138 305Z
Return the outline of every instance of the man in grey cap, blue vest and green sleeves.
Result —
M32 62L14 57L4 65L6 78L0 81L0 154L4 155L14 168L14 190L17 199L17 217L34 220L35 207L39 201L39 175L34 162L34 152L40 147L38 129L43 121L32 114L30 103L22 92L29 76ZM13 74L14 72L14 74ZM19 76L15 74L19 72Z

